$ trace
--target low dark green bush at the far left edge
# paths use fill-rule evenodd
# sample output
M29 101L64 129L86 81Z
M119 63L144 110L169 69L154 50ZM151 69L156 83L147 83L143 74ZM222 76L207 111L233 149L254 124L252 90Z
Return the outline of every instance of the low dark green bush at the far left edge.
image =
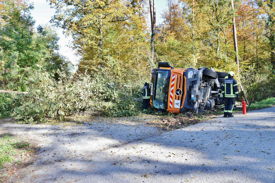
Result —
M0 93L0 119L10 117L14 108L15 96Z

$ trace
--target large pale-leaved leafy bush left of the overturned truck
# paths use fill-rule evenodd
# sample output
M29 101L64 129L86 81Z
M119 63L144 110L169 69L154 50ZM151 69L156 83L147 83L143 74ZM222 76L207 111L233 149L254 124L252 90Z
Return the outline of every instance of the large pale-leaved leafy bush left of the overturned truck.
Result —
M53 73L54 74L54 73ZM120 117L135 115L139 103L132 89L121 83L112 83L106 74L91 77L80 74L72 80L58 71L53 74L37 72L29 78L31 94L19 95L21 105L14 109L14 117L25 122L63 119L65 116L85 112L90 115Z

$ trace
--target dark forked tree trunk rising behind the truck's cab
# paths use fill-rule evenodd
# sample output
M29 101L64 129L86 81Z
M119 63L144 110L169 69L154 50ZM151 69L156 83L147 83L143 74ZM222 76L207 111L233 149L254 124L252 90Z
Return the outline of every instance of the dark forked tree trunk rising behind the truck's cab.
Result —
M151 0L149 0L149 4L150 4L151 29L152 29L151 57L154 60L154 64L156 64L156 55L155 55L156 5L155 5L155 0L153 0L153 10L152 10Z

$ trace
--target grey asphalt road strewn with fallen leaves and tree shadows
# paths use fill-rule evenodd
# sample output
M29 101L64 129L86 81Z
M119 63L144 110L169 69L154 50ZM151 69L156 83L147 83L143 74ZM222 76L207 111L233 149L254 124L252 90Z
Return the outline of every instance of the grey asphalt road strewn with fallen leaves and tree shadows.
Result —
M11 181L275 182L275 107L165 132L132 119L0 123L40 147Z

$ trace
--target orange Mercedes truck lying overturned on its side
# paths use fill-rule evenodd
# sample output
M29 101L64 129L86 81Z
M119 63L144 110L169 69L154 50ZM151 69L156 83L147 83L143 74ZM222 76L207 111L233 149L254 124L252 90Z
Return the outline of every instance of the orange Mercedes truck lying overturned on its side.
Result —
M213 110L220 107L218 90L225 76L227 73L206 67L182 69L159 62L158 68L152 70L150 105L172 113Z

